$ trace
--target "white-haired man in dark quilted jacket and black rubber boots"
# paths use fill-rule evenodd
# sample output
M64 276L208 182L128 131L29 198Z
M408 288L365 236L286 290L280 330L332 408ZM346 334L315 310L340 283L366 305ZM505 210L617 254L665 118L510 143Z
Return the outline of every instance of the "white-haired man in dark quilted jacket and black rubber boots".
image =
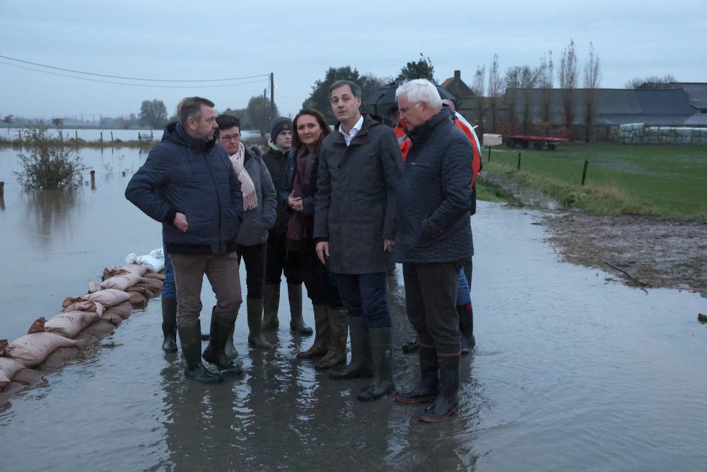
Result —
M412 146L398 185L393 256L403 265L407 316L418 335L421 371L419 384L396 393L395 401L433 401L418 418L438 422L459 409L456 298L460 268L472 257L472 149L430 81L409 81L395 98Z

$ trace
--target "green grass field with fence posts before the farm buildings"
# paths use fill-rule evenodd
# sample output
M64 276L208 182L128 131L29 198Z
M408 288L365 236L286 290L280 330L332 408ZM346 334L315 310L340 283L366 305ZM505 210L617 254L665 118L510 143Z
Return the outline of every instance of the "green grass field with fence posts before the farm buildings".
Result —
M703 147L568 144L556 151L537 151L499 146L492 148L490 162L488 153L484 148L484 171L539 190L566 208L596 214L707 218L707 149ZM582 186L585 160L589 164ZM480 185L484 186L483 179ZM486 190L479 193L486 195Z

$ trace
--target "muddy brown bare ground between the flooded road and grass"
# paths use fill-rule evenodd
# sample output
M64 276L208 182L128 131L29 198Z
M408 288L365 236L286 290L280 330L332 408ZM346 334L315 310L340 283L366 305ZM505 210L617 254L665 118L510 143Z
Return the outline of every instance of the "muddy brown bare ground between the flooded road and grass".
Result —
M707 297L707 221L551 212L543 224L571 263L598 267L629 285Z

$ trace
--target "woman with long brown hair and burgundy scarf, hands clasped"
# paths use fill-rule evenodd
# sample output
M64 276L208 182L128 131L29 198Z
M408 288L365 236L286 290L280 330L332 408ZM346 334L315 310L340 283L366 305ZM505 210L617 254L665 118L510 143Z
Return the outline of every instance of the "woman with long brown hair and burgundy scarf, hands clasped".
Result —
M315 367L327 369L346 362L346 337L349 323L327 267L315 250L314 233L317 169L322 140L331 132L324 115L305 108L293 120L295 132L292 151L283 176L281 201L291 212L287 226L287 269L298 275L307 287L315 317L312 347L298 353L300 359L322 357Z

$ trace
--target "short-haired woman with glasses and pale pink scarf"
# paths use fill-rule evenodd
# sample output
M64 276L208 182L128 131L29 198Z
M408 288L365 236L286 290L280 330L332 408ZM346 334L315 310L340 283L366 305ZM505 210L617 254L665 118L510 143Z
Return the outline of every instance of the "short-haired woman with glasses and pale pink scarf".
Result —
M245 263L245 299L248 316L248 344L260 349L272 349L261 334L265 251L267 231L275 223L277 197L265 163L240 142L240 120L232 115L216 117L218 143L226 149L243 192L243 222L236 238L238 263ZM233 332L226 343L226 354L238 356L233 347Z

